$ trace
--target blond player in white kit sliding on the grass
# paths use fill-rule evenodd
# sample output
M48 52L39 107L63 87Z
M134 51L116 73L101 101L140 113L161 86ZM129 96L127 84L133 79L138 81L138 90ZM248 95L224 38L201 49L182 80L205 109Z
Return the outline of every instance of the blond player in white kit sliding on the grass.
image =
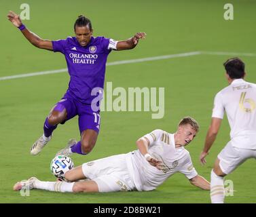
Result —
M33 177L17 182L14 190L26 187L74 193L151 191L176 172L185 174L191 184L209 190L210 183L198 175L184 148L198 129L194 119L185 117L175 134L154 130L136 141L139 150L90 161L69 170L65 173L69 182L42 182Z

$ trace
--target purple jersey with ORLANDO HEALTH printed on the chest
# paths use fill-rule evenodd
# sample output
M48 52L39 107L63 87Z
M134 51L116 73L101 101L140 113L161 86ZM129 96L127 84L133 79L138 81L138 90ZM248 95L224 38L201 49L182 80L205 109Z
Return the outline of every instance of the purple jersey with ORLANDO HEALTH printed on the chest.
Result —
M90 43L82 47L75 37L52 41L53 51L65 55L70 75L66 96L91 104L96 96L91 96L94 87L104 87L107 56L111 52L109 43L113 39L91 37Z

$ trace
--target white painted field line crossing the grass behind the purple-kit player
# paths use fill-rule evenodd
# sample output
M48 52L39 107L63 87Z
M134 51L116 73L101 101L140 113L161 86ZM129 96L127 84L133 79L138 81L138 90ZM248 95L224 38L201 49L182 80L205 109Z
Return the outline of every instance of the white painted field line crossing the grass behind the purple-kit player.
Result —
M252 53L238 53L238 52L187 52L187 53L181 53L181 54L170 54L170 55L164 55L164 56L153 56L153 57L149 57L149 58L139 58L139 59L133 59L133 60L121 60L121 61L109 62L109 63L107 63L107 66L130 64L130 63L136 63L136 62L149 62L149 61L155 61L155 60L165 60L165 59L172 59L172 58L179 58L179 57L186 57L186 56L195 56L195 55L251 56L251 57L256 56L256 54L252 54ZM65 72L67 72L67 68L61 68L61 69L56 69L56 70L51 70L51 71L41 71L41 72L36 72L36 73L26 73L26 74L20 74L20 75L11 75L11 76L0 77L0 81L10 80L10 79L19 79L22 77L33 77L33 76L37 76L37 75L65 73Z

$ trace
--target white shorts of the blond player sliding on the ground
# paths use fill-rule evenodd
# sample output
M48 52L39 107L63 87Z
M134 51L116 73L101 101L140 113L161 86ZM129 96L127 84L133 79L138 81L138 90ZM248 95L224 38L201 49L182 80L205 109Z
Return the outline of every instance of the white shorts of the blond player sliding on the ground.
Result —
M83 163L84 176L97 183L99 192L135 190L134 182L128 172L125 156L125 154L113 155Z

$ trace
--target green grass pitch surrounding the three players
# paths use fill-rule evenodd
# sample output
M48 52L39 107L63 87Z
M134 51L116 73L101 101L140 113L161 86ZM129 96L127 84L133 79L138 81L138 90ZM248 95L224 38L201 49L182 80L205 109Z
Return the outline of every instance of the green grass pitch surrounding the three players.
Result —
M234 5L234 20L224 20L226 1L32 1L31 20L24 24L43 39L65 39L73 35L79 14L92 20L94 36L126 39L145 31L147 39L134 50L111 52L108 62L195 51L238 52L246 63L246 79L256 83L256 1L228 1ZM0 3L0 77L65 68L62 54L39 50L29 44L7 20L9 10L20 13L20 1ZM165 87L165 115L151 119L150 112L103 112L98 141L92 153L73 155L75 165L136 149L135 141L151 130L175 132L187 115L200 123L200 132L187 149L198 173L208 180L217 154L229 140L230 127L223 120L206 166L199 155L211 121L213 97L227 85L222 63L232 55L170 58L151 62L107 66L105 81L113 87ZM52 193L31 191L22 197L12 191L18 180L37 176L54 180L49 165L56 151L69 138L79 139L77 118L58 126L54 138L40 155L29 154L42 134L43 121L67 90L69 75L58 73L0 81L0 203L210 203L208 191L189 184L175 174L156 191L128 193ZM234 182L234 197L226 203L256 203L255 160L246 161L226 177Z

